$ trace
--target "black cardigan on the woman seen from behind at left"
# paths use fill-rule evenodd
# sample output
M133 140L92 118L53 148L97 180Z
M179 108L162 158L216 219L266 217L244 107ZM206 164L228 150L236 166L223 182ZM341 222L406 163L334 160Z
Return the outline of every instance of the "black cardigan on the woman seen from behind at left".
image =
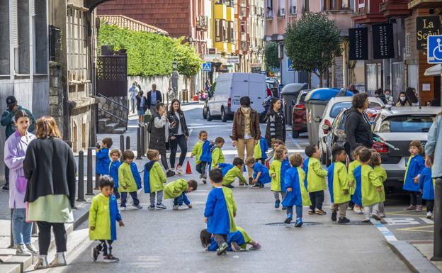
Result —
M29 143L23 170L28 179L25 201L40 196L64 194L75 206L77 165L71 148L56 138L38 138Z

